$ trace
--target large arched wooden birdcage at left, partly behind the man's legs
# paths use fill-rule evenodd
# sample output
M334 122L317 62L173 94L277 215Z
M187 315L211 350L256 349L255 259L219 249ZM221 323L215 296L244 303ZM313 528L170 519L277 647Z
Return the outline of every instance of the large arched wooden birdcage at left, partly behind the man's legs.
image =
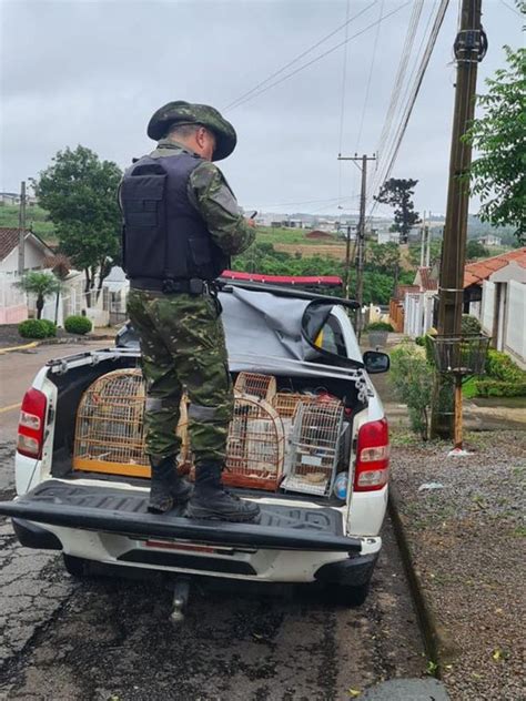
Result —
M77 412L73 469L150 477L144 446L145 385L140 369L102 375L84 392ZM186 397L176 428L179 463L190 459Z

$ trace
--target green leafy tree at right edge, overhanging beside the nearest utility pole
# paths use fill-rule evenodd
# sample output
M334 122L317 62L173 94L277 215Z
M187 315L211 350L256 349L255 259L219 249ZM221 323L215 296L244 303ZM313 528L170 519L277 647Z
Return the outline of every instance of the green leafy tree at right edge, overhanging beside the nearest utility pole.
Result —
M517 7L526 12L526 3ZM464 140L478 151L471 167L472 193L481 197L479 216L495 226L513 225L519 243L526 240L526 49L504 47L507 67L486 80L478 95L483 115Z

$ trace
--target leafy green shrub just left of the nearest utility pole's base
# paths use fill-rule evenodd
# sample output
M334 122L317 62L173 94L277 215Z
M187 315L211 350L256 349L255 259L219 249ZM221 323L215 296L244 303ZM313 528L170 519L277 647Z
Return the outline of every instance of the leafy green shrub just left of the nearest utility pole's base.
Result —
M395 348L391 354L391 382L397 398L407 405L411 428L427 440L433 373L425 353L414 345Z

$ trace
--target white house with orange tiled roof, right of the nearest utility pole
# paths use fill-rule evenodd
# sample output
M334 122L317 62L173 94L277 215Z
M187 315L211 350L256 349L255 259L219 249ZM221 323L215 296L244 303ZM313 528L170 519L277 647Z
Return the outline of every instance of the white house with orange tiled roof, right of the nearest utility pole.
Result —
M479 319L494 348L526 368L526 247L466 265L464 312Z

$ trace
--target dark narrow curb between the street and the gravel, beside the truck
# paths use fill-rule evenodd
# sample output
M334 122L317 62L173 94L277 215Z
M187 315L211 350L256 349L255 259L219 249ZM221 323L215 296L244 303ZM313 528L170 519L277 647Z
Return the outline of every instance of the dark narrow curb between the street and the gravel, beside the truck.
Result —
M437 667L434 675L442 679L442 666L456 657L455 648L439 626L433 606L424 591L418 571L411 551L409 539L399 512L401 495L396 485L390 482L388 511L402 555L402 562L409 583L409 590L415 603L418 624L424 639L427 658Z

